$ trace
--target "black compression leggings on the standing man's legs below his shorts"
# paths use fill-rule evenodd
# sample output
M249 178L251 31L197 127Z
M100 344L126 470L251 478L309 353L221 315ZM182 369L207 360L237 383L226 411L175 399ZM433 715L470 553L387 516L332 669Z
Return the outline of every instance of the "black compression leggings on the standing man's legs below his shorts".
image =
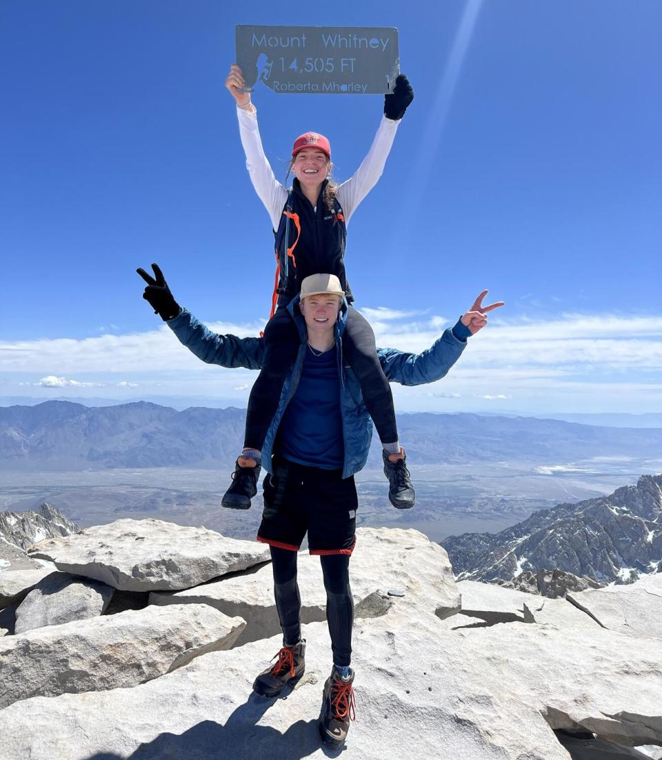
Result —
M274 597L285 644L301 638L301 597L296 582L296 552L271 546L274 570ZM331 635L331 651L336 665L350 665L354 600L350 588L350 557L347 554L320 556L326 589L326 619Z

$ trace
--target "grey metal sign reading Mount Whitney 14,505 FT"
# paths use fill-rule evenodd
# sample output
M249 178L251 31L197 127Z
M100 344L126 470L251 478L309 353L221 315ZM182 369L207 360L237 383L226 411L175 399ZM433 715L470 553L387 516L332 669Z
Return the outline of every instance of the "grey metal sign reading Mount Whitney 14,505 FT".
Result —
M387 93L400 73L394 27L249 27L235 30L246 92Z

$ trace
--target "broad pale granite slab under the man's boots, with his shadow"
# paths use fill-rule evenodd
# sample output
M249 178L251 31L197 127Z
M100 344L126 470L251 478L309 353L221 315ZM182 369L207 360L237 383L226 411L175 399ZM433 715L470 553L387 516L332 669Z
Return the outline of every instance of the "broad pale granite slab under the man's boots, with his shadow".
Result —
M553 729L629 746L662 741L654 639L600 628L569 637L520 622L453 631L452 619L415 606L402 612L392 607L356 622L348 760L568 760ZM287 698L252 693L255 675L280 648L274 636L205 654L131 689L11 705L0 711L7 758L87 760L105 752L201 760L218 746L231 746L236 760L328 757L315 727L331 669L328 630L315 622L303 635L306 673ZM72 749L71 736L78 737Z

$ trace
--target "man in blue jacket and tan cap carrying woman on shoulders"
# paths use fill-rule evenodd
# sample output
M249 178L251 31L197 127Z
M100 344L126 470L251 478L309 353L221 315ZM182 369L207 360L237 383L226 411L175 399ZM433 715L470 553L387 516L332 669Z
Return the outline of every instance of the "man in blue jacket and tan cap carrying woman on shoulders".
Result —
M152 268L155 278L138 269L147 282L143 297L182 344L207 363L260 369L264 359L261 338L212 333L179 307L157 264ZM421 385L442 378L466 347L467 337L486 325L487 312L503 305L483 306L486 293L480 293L457 324L423 353L378 349L388 380ZM333 274L306 277L301 293L287 308L299 329L301 344L262 448L268 475L258 530L258 541L271 548L283 647L276 664L260 673L253 689L274 697L305 670L296 557L307 532L309 552L321 560L334 663L325 682L318 730L325 744L338 748L355 717L350 667L354 605L349 576L358 506L353 476L366 464L372 422L359 382L343 362L341 338L348 306L338 278ZM259 468L257 464L255 480ZM408 482L406 468L402 477ZM404 491L407 482L402 483ZM413 505L405 500L398 503L399 508Z

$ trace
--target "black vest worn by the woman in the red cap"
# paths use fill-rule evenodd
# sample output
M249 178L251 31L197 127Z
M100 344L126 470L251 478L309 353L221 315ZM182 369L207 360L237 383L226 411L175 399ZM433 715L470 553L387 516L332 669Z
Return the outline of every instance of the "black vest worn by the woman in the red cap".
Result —
M347 228L341 204L337 198L330 211L324 200L327 180L323 182L317 202L317 210L301 192L299 180L295 179L292 191L283 207L276 230L276 251L280 266L278 281L278 306L287 305L301 290L301 283L309 274L335 274L347 293L347 301L353 301L347 277L345 277L345 240ZM291 255L287 257L286 249Z

